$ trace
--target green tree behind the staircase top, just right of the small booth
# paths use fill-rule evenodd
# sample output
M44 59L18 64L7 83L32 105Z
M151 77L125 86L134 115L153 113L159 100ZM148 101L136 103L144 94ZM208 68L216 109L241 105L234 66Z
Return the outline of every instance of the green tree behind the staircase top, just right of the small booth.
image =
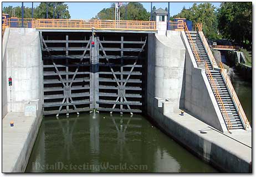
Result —
M211 3L201 3L198 5L194 3L189 9L183 7L182 11L174 15L173 18L186 18L187 20L191 20L193 24L197 22L202 23L203 33L207 38L219 38L217 34L217 11L216 7Z

